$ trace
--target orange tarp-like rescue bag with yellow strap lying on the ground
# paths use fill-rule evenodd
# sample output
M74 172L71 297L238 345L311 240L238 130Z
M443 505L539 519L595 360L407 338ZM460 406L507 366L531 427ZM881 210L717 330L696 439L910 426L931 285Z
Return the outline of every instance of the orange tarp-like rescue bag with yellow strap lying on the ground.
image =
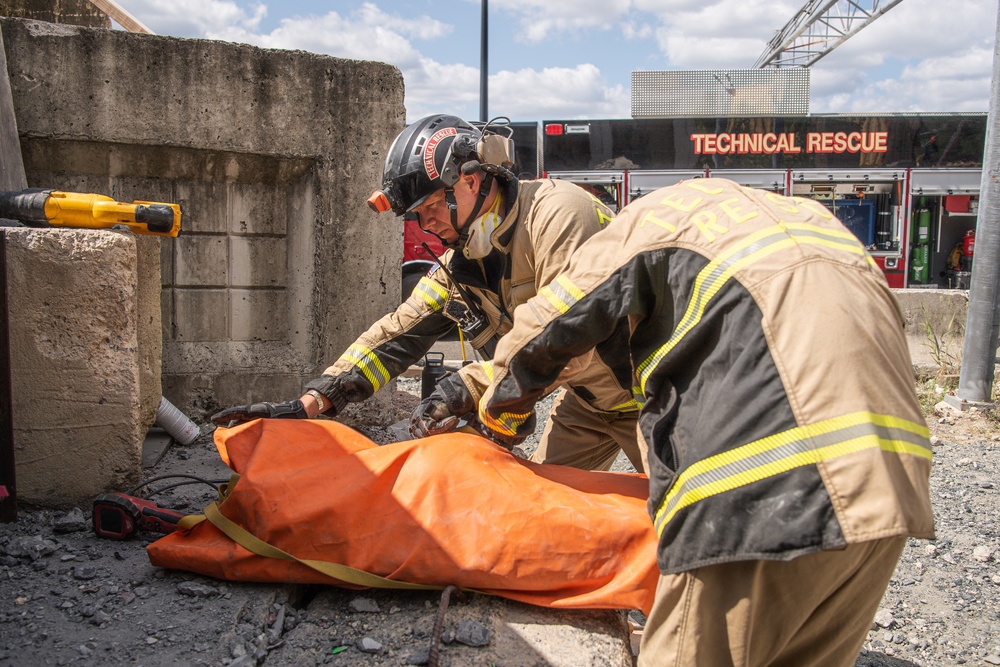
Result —
M256 420L216 430L215 443L235 481L207 520L188 517L199 522L148 546L153 565L240 581L454 584L558 608L652 606L644 475L539 465L464 433L379 447L327 420Z

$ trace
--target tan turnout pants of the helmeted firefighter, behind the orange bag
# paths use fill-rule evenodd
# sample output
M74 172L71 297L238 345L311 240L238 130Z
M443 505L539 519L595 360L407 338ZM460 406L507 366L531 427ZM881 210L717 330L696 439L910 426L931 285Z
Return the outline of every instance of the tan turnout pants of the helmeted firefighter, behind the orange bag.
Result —
M601 412L569 390L562 390L552 404L538 449L536 463L611 470L623 450L639 472L647 472L646 452L638 444L638 412Z

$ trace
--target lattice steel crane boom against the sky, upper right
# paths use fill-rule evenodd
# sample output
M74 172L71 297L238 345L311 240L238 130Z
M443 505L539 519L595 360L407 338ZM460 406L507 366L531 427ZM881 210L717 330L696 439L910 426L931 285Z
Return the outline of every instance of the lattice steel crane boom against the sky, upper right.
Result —
M900 2L809 0L775 33L754 67L810 67Z

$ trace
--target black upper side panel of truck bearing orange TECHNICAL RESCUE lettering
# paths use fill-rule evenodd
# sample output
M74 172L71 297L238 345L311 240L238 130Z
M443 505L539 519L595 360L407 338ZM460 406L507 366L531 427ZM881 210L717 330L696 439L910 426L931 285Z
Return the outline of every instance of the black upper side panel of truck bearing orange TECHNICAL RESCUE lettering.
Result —
M543 172L976 169L986 114L542 121Z

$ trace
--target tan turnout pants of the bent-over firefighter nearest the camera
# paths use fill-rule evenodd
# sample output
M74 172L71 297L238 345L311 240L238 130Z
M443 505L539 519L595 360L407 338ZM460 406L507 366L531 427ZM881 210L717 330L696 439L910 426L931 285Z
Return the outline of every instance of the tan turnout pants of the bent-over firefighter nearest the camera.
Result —
M853 667L905 544L661 575L639 667Z

